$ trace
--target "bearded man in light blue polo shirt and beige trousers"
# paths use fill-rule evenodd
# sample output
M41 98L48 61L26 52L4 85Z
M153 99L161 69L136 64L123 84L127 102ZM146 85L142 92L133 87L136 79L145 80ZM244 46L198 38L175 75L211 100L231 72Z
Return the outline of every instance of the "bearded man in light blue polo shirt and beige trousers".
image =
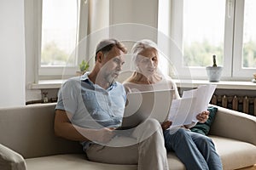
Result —
M69 79L61 88L55 108L55 134L81 142L90 161L167 170L159 122L148 119L133 129L131 136L117 135L114 130L121 124L125 109L125 88L115 82L125 54L126 48L115 39L99 42L93 70Z

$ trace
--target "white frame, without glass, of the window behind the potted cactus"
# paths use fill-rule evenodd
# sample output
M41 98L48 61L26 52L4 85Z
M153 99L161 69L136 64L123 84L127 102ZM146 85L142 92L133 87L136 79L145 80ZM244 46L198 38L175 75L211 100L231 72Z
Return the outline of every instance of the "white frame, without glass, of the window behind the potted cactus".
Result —
M255 69L242 68L243 14L245 0L226 0L224 19L224 65L221 80L250 81ZM183 0L172 0L170 36L183 50ZM229 13L229 14L228 14ZM182 54L182 53L181 53ZM207 79L205 67L183 65L182 56L171 54L178 75L175 78ZM188 75L188 70L190 75Z

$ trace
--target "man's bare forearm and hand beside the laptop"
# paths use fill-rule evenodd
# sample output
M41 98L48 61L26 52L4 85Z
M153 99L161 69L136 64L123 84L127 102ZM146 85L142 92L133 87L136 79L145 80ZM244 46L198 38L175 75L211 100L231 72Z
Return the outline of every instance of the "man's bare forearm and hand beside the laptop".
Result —
M62 110L55 111L55 135L61 138L75 141L95 141L107 143L113 138L113 129L90 129L78 127L70 122L70 113Z

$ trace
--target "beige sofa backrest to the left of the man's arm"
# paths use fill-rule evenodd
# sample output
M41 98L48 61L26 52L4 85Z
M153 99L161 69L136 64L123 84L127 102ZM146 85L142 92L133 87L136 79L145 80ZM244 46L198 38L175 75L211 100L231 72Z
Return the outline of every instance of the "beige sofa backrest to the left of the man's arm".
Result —
M54 133L55 103L0 109L0 144L25 158L82 153L78 142Z

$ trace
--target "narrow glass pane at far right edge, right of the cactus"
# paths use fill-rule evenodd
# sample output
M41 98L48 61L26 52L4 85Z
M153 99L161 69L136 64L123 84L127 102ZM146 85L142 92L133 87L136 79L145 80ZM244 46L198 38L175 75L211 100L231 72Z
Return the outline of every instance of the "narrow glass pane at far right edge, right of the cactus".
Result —
M256 67L256 1L245 1L243 28L243 67Z

